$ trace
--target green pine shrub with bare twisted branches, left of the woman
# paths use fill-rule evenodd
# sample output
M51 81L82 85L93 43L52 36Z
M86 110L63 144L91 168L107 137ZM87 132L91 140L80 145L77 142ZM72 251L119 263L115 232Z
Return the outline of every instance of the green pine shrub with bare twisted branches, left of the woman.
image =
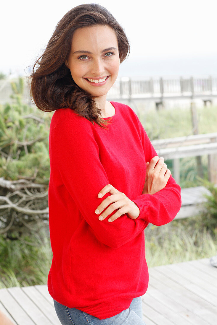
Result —
M48 220L51 116L22 103L22 78L11 86L13 103L0 106L0 233L14 240Z

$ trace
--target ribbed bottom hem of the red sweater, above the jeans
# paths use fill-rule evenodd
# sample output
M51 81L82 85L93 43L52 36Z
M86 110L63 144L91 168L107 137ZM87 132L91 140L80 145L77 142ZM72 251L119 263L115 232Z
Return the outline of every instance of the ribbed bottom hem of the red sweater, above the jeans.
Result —
M129 308L133 298L125 300L125 304L120 305L118 301L110 301L87 307L76 307L87 314L99 319L105 319L120 314L123 310Z

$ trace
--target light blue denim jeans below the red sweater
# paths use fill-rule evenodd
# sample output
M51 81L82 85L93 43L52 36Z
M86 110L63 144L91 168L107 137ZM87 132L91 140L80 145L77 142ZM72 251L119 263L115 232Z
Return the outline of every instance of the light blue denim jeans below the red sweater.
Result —
M99 319L77 308L61 305L53 299L56 314L62 325L146 325L142 320L141 297L132 300L129 308L115 316Z

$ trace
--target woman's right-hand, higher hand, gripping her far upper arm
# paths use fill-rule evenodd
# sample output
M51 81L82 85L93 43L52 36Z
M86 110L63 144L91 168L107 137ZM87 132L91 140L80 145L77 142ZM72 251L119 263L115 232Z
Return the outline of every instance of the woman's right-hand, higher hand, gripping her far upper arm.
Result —
M142 194L154 194L165 188L170 175L171 172L164 163L164 158L154 156L150 162L146 162L146 176Z

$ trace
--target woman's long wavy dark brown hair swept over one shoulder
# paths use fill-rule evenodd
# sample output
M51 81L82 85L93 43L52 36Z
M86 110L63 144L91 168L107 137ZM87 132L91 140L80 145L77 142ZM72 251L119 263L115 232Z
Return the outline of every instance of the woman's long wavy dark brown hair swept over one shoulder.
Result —
M97 3L82 4L69 10L58 22L44 53L36 60L33 71L27 77L30 96L36 107L45 112L71 108L93 124L107 128L111 120L101 119L93 95L81 89L73 80L65 60L71 49L73 33L81 27L108 25L117 36L120 63L130 53L127 36L112 14ZM128 55L127 55L128 54ZM34 72L36 64L38 65Z

